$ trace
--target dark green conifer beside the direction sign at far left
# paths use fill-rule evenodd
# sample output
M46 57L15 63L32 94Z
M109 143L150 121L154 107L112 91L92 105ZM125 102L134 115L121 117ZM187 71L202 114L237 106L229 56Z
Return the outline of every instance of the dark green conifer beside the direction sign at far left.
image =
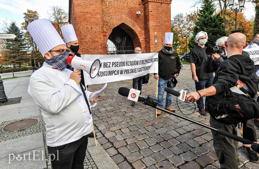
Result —
M5 40L5 61L7 61L8 64L12 64L13 68L15 68L15 65L19 65L19 67L21 67L23 63L27 63L29 60L24 34L14 21L12 21L6 28L5 33L15 34L17 36L14 39Z

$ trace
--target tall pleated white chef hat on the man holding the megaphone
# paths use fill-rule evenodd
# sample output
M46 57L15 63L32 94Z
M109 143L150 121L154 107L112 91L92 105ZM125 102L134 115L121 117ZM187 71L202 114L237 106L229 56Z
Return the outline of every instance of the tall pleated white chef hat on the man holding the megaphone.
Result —
M27 26L27 29L43 57L52 48L62 44L65 45L57 30L48 19L35 20Z

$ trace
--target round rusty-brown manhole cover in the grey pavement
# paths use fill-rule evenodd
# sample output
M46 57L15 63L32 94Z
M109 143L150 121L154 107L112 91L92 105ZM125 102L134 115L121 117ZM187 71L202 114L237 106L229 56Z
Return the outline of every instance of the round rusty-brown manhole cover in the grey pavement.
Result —
M26 128L32 127L37 124L38 120L34 118L23 119L19 121L15 121L5 126L5 131L19 131L24 130Z

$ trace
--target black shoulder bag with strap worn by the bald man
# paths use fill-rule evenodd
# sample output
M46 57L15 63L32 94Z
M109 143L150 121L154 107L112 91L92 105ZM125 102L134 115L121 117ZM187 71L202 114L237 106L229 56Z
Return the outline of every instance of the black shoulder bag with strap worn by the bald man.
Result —
M258 83L256 84L251 75L250 77L247 76L248 74L237 58L228 59L238 62L241 68L241 74L238 79L250 89L250 96L232 92L230 89L224 93L208 96L209 114L215 120L228 125L259 118L259 102L254 100L257 94L258 86L256 85Z

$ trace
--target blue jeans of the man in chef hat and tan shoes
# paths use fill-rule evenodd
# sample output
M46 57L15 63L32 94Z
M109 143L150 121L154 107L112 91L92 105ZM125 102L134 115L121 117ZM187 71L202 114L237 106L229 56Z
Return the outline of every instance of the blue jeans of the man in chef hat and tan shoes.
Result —
M168 87L171 89L174 89L171 87L171 81L172 78L170 79L163 79L159 78L158 80L158 107L163 108L163 101L164 101L164 88ZM166 92L166 100L165 100L165 107L170 107L172 104L172 94Z

